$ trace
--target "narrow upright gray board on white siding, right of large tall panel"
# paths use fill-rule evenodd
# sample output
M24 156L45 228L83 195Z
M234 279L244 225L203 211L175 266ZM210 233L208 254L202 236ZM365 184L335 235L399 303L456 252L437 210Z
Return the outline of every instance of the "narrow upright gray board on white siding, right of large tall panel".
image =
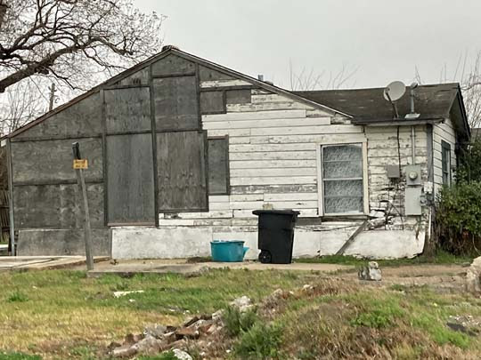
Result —
M229 139L208 140L208 193L229 194Z

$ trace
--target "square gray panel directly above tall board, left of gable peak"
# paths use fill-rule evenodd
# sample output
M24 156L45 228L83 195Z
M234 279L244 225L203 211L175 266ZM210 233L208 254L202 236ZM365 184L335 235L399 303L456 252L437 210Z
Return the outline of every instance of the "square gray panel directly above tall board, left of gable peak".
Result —
M105 90L107 132L151 130L151 94L148 87Z

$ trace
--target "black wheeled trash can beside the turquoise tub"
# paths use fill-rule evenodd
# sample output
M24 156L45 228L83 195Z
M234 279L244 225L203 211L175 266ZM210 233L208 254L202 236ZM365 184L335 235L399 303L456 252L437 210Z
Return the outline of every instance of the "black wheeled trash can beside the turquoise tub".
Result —
M294 244L294 226L299 212L293 210L256 210L259 217L259 261L267 264L290 264Z

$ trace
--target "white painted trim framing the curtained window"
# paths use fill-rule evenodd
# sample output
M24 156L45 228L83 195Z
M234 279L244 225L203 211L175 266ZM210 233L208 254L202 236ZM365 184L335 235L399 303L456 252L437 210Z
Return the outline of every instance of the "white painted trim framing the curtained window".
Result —
M326 145L344 145L344 144L362 144L363 148L363 212L324 212L324 181L322 180L322 151L321 148ZM341 140L325 140L317 143L316 146L316 166L317 166L317 202L320 216L353 216L367 215L369 213L369 178L368 178L368 161L367 161L367 139L362 136L346 137Z

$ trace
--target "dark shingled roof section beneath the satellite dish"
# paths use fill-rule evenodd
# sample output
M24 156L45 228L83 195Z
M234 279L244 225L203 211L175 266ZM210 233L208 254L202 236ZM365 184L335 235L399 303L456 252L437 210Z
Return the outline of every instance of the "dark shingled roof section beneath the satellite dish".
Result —
M452 102L457 96L458 84L420 85L415 89L414 107L420 118L448 117ZM331 108L338 108L358 120L393 119L393 108L384 99L384 88L322 90L313 92L295 92L306 99L322 103ZM409 89L404 96L395 101L399 116L404 117L411 110Z

